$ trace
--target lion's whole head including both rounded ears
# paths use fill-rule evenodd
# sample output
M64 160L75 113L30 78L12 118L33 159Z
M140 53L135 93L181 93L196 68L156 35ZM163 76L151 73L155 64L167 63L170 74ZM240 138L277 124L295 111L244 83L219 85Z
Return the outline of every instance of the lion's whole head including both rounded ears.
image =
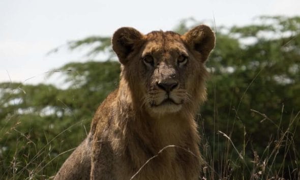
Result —
M112 48L122 63L135 104L150 114L197 110L206 99L204 63L215 46L211 28L199 25L184 35L155 31L142 35L119 28Z

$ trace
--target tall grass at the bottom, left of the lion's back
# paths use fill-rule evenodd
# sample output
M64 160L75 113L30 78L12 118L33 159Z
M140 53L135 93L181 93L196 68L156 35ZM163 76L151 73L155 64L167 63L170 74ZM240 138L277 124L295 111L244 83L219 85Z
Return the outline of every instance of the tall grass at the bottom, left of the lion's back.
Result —
M0 179L51 179L82 140L82 135L74 131L84 127L82 122L56 134L51 128L42 128L43 123L49 126L49 122L37 121L36 125L30 125L32 122L22 115L14 114L3 121L7 123L0 129L0 141L4 142L0 144ZM78 135L78 140L68 141L70 135Z

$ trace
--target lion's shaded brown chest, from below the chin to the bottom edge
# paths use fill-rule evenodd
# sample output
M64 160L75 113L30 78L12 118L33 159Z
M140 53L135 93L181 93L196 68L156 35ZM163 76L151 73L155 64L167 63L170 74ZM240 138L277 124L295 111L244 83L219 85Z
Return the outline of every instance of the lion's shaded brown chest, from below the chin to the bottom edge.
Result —
M112 168L115 179L197 179L199 159L194 155L199 154L198 147L192 138L187 138L191 132L186 130L187 125L174 124L174 118L165 119L168 126L138 125L140 121L132 121L131 116L123 121L119 117L113 118L118 123L114 123L109 131L113 133L108 135L109 139L117 139L109 141L115 155Z

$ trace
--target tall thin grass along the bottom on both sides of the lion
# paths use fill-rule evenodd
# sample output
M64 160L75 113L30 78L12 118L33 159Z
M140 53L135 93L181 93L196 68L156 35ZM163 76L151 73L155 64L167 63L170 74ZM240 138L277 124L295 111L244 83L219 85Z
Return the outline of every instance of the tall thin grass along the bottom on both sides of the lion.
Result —
M264 119L272 121L262 112L252 110L261 115ZM66 131L72 129L72 126L66 128L60 134L47 139L46 144L40 144L32 140L30 133L24 134L18 130L21 126L21 119L16 121L9 131L2 134L2 139L10 139L8 136L15 134L15 149L12 157L4 157L4 149L0 152L1 172L0 179L48 179L58 170L61 164L57 159L65 159L73 151L70 148L64 152L53 152L53 140L68 140L61 136ZM275 134L270 136L269 142L265 147L255 147L248 136L246 127L241 136L244 138L243 144L236 144L231 139L230 134L215 130L215 138L205 135L205 125L201 125L201 152L205 164L203 166L200 179L299 179L299 151L295 148L294 138L296 127L299 124L300 111L289 119L289 126L281 127L280 123L274 126L278 127ZM281 119L285 121L285 119ZM203 122L203 121L202 121ZM75 126L75 125L73 125ZM4 128L2 128L4 129ZM233 129L234 131L234 129ZM62 139L63 138L63 139ZM76 146L76 144L74 144ZM168 148L177 148L168 146ZM263 148L263 153L258 154L257 148ZM165 148L164 148L165 149ZM164 150L162 149L162 151ZM214 151L213 151L214 150ZM6 150L7 151L7 150ZM33 153L34 154L29 154ZM260 151L261 152L261 151ZM66 156L63 156L66 155ZM156 157L154 157L156 158ZM286 159L293 159L290 164L286 164ZM7 163L9 162L9 163ZM134 178L133 178L134 179Z

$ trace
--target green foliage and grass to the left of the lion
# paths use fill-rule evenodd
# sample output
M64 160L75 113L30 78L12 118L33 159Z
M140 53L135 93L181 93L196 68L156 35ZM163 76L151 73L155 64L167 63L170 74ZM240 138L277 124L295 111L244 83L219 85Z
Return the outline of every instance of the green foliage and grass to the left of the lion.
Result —
M120 70L117 62L87 62L53 71L59 72L69 88L0 83L0 179L53 175L86 137Z

